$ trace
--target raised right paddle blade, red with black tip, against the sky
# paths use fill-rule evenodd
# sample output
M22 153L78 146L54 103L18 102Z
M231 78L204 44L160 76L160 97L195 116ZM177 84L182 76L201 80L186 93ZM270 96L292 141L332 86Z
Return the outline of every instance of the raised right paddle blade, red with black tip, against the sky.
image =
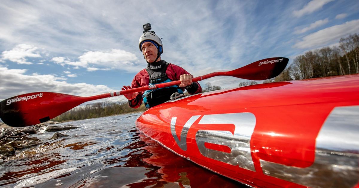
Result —
M237 78L264 80L278 76L288 64L289 59L285 57L272 57L262 59L244 67L229 71L228 76Z

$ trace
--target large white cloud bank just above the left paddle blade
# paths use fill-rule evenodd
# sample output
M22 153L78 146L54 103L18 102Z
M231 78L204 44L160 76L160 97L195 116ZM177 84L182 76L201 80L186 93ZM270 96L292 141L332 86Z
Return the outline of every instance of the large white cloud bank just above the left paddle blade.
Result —
M69 95L90 96L113 91L105 85L91 85L87 83L67 83L64 78L51 74L26 75L26 69L9 69L0 67L0 101L12 96L48 91L66 93ZM112 100L124 100L124 97L112 97Z

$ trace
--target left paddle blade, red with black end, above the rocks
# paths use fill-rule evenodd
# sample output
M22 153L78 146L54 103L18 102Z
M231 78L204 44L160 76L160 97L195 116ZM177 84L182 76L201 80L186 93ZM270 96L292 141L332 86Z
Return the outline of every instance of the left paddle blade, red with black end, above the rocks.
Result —
M0 118L12 127L36 125L78 106L84 98L52 92L18 95L0 102Z

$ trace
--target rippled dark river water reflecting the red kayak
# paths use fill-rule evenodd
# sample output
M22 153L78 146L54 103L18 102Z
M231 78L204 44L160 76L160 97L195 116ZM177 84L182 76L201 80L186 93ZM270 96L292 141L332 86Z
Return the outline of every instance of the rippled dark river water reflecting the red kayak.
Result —
M64 122L78 129L0 160L0 187L245 187L173 154L141 134L141 113Z

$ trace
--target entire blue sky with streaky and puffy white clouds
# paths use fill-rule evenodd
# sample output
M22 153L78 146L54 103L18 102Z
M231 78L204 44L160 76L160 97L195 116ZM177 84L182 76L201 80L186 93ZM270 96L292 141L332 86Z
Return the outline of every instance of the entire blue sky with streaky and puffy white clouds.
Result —
M359 33L358 0L3 0L0 12L0 100L121 90L146 66L138 47L145 23L163 38L162 59L194 76L269 57L293 62ZM200 83L232 88L242 81Z

